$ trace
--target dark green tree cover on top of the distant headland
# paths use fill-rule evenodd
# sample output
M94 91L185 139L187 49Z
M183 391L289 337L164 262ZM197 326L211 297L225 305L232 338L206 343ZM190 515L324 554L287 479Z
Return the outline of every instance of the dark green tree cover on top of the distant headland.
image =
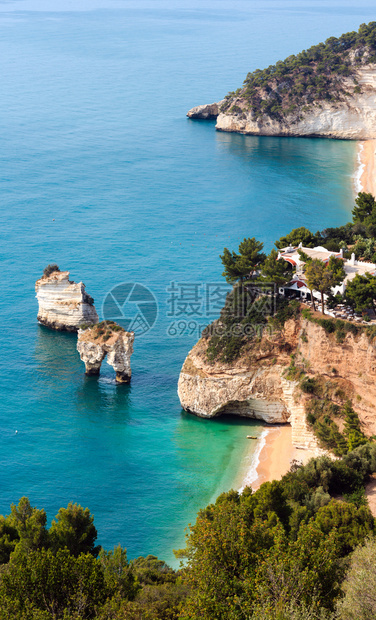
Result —
M341 101L361 92L356 68L376 62L376 22L362 24L358 32L330 37L266 69L249 73L242 88L225 97L222 112L254 118L263 115L282 120L302 117L314 103ZM347 78L347 80L345 80Z

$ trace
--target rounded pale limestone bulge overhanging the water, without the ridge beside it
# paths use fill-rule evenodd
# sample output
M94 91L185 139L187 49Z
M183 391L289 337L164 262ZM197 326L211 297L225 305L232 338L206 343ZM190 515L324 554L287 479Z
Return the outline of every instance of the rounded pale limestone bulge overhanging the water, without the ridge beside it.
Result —
M208 341L199 340L180 373L178 394L182 407L201 417L233 413L267 423L286 423L290 411L281 375L289 365L289 351L298 330L299 326L289 321L282 336L265 336L254 350L248 350L231 365L209 363Z

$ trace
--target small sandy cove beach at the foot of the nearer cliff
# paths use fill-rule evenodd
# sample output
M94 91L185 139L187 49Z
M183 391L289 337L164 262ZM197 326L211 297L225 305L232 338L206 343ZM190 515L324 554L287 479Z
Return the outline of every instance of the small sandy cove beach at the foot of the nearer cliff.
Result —
M253 466L240 490L245 486L251 486L255 491L263 482L280 480L290 470L292 461L305 465L316 456L312 450L294 448L291 426L287 424L265 428L259 442Z

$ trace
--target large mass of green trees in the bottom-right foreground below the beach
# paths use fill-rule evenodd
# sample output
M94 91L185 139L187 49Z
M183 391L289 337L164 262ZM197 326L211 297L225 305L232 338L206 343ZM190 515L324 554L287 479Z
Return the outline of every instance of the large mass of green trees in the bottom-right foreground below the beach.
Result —
M223 494L201 510L188 537L184 617L287 619L293 606L303 618L313 606L317 618L318 608L334 609L344 558L375 530L366 505L338 496L362 496L375 468L376 447L367 445L341 461L295 467L256 493Z

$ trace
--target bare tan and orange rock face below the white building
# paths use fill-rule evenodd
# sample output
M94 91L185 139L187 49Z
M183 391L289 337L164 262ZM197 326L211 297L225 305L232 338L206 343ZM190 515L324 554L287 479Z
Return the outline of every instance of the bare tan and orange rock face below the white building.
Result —
M188 354L179 377L182 407L201 417L234 414L270 423L290 423L293 445L320 453L306 421L310 396L288 380L291 354L306 376L331 385L338 404L351 398L363 432L376 434L376 346L365 333L344 341L306 319L290 319L281 332L265 332L231 364L210 363L202 338ZM336 396L337 395L337 396ZM339 423L341 426L341 422Z

